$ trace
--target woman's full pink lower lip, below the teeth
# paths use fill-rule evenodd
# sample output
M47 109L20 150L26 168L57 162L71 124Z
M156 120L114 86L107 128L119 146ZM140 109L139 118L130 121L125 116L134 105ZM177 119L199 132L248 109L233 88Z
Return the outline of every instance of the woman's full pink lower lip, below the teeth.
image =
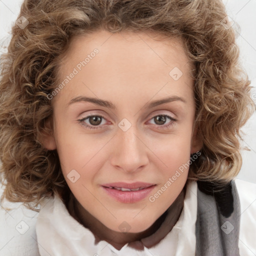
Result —
M104 190L119 202L133 203L144 199L155 185L143 188L138 191L121 191L114 188L102 186Z

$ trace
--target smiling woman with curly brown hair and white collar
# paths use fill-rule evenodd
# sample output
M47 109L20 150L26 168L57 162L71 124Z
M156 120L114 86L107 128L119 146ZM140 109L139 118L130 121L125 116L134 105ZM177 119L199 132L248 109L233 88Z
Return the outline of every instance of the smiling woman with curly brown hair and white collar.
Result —
M254 104L222 2L25 0L20 16L0 159L3 197L40 204L33 255L247 253L233 179Z

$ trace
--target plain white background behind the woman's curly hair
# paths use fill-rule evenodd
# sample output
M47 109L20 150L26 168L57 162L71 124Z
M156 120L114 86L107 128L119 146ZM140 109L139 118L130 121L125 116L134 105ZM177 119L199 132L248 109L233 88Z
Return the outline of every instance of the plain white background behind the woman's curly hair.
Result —
M10 40L10 28L20 10L21 0L0 0L0 53ZM240 58L246 69L251 85L256 83L256 0L224 0L228 16L240 26L237 43ZM253 91L256 93L255 88ZM256 95L256 94L255 94ZM255 99L255 97L254 97ZM255 100L256 101L256 100ZM238 178L256 183L256 114L244 126L244 145L250 151L242 151L243 164Z

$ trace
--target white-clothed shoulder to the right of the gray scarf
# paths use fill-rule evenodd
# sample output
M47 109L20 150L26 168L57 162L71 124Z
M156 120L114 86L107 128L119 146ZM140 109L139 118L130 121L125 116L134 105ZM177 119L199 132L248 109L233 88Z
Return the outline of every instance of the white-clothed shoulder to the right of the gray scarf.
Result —
M240 201L240 254L256 255L256 183L237 178L234 181Z

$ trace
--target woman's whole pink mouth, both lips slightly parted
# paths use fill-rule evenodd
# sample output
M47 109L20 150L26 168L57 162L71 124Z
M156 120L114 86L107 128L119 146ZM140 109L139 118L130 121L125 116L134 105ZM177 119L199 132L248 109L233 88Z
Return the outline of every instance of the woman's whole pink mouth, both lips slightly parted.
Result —
M134 203L144 199L155 186L156 184L145 182L116 182L101 185L108 195L123 203Z

